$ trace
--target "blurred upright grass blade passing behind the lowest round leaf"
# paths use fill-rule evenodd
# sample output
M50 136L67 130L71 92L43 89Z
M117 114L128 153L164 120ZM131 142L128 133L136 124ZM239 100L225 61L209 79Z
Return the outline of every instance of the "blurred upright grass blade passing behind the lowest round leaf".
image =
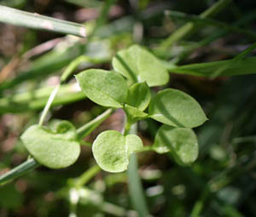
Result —
M124 134L137 134L137 123L131 125L131 123L126 122ZM131 198L131 204L140 217L147 217L150 215L148 212L146 198L143 194L142 181L137 170L137 154L132 153L130 157L130 163L127 169L128 188Z

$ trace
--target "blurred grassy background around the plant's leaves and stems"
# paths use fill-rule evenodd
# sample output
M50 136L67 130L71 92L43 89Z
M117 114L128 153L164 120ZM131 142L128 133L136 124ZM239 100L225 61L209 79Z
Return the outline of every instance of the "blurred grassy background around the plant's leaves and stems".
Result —
M0 23L0 174L26 161L20 134L38 122L61 72L79 57L101 58L84 62L86 68L112 69L111 58L120 49L139 43L168 65L183 66L229 60L256 41L256 2L226 1L214 19L247 29L224 31L204 24L178 40L171 40L187 20L171 19L165 10L201 14L214 0L2 0L0 5L84 23L88 37L63 36ZM255 32L256 33L256 32ZM254 33L254 34L255 34ZM173 38L172 38L173 39ZM247 56L253 56L252 51ZM240 69L241 74L243 68ZM209 118L195 128L200 153L191 167L154 151L140 153L139 174L153 216L256 216L256 75L196 77L171 72L163 88L181 89L199 101ZM255 67L256 72L256 67ZM217 73L217 74L216 74ZM85 99L70 77L49 112L48 120L66 119L82 126L104 108ZM123 127L123 112L115 111L85 138L91 143L106 129ZM153 120L139 123L145 146L154 143L160 127ZM90 146L82 146L71 167L44 167L0 187L0 216L72 216L72 182L96 164ZM80 192L77 216L137 216L128 197L126 173L99 171ZM74 216L74 215L73 215Z

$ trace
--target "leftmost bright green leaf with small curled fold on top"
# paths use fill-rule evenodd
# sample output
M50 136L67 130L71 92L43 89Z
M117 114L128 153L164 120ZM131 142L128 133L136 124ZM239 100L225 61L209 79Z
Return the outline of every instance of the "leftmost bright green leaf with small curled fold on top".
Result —
M21 140L32 157L48 168L66 168L79 157L76 130L67 121L56 123L52 129L32 125Z

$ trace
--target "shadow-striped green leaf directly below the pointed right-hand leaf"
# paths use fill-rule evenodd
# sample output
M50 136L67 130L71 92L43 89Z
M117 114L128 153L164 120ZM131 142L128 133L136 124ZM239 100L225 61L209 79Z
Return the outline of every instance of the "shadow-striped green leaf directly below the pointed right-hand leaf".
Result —
M170 151L172 157L180 165L189 165L195 162L198 156L198 142L194 131L190 128L161 126L152 148L158 153Z

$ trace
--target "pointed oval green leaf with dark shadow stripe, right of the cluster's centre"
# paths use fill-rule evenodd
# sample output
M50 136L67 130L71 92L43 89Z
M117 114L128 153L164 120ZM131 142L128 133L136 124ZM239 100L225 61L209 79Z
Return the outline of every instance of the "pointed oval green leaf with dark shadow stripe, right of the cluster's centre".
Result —
M156 94L149 105L149 117L180 128L195 128L207 121L198 102L177 89L165 89Z

